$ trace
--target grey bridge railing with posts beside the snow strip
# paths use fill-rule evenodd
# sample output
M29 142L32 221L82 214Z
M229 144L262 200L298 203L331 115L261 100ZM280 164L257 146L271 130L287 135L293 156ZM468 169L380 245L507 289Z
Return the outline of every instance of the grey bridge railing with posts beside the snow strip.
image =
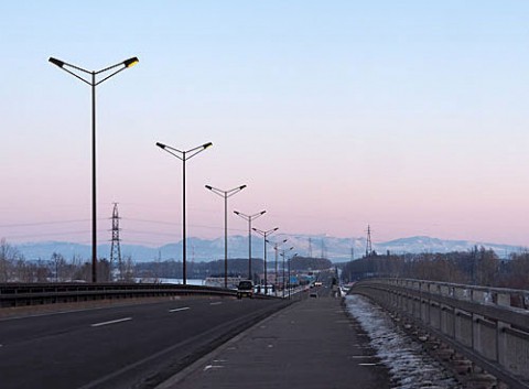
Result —
M413 320L510 388L529 388L529 291L374 279L352 292Z

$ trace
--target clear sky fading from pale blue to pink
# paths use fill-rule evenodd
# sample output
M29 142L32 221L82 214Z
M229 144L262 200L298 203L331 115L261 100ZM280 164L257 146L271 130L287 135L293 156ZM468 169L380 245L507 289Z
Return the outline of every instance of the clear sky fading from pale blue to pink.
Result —
M529 246L527 1L3 1L0 238L90 242L98 71L98 239L260 229Z

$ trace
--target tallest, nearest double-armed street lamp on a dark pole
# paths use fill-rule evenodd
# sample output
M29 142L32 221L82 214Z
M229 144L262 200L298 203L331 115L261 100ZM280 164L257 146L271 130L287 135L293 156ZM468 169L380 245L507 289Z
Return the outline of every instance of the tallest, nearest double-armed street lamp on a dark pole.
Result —
M89 72L54 57L50 57L48 61L91 87L91 281L97 282L96 86L115 76L119 72L132 67L139 62L139 60L134 56L97 72ZM109 75L102 75L101 79L96 79L97 75L107 73L109 71L112 71ZM90 77L89 79L85 79L75 72L87 74Z

